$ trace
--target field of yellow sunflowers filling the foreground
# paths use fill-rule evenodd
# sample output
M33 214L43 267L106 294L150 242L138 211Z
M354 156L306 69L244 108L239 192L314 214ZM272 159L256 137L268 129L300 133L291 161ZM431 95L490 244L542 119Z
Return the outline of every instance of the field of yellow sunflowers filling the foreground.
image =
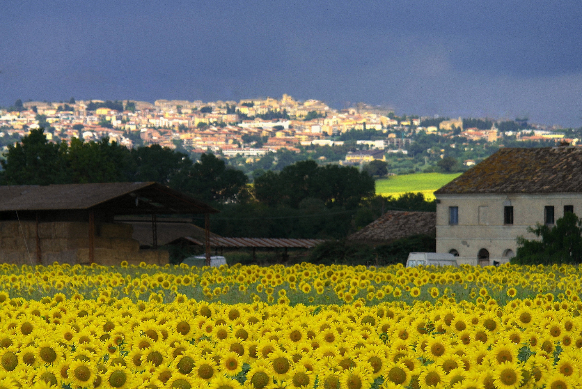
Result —
M0 389L577 389L576 266L0 265Z

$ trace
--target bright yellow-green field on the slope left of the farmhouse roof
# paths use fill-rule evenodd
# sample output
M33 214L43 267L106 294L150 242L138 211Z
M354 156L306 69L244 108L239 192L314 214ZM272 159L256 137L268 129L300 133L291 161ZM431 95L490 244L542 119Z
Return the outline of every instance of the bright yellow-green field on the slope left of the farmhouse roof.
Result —
M461 173L417 173L391 176L376 181L376 193L398 197L406 192L423 192L427 199L434 199L432 192L460 176Z

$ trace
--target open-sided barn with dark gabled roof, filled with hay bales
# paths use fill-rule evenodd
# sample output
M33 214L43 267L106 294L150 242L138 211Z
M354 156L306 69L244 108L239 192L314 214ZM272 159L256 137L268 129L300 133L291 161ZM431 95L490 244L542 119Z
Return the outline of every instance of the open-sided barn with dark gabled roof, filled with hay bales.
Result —
M218 212L156 182L0 186L0 198L0 262L16 264L165 264L157 215ZM140 250L118 215L150 215L152 249Z

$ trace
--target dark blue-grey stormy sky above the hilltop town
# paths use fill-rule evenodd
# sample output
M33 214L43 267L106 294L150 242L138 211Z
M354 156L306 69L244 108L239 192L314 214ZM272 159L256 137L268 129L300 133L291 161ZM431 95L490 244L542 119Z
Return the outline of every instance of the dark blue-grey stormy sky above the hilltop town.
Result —
M0 105L289 93L578 127L581 16L580 1L4 1Z

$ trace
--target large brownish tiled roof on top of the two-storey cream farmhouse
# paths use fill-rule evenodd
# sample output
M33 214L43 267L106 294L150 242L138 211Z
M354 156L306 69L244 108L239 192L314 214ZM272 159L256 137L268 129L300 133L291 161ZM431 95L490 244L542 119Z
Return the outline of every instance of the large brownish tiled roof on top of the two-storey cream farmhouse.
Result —
M581 147L501 148L435 195L563 192L582 192Z

